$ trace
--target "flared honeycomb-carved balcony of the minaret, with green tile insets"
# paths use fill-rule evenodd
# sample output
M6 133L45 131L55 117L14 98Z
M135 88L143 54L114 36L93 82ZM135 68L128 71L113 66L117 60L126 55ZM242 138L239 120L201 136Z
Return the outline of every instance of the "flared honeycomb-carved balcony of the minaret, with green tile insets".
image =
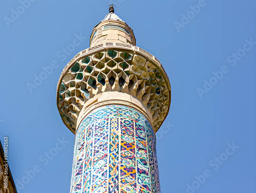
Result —
M169 79L152 54L117 42L83 50L64 68L57 85L63 122L75 133L83 105L97 94L113 91L141 101L157 132L169 111Z

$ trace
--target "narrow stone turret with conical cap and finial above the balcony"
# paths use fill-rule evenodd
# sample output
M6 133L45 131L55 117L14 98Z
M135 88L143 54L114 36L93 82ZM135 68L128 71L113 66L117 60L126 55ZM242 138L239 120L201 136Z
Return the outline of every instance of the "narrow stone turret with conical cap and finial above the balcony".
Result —
M110 6L110 13L93 28L90 46L109 41L136 46L133 29L114 13L113 5Z

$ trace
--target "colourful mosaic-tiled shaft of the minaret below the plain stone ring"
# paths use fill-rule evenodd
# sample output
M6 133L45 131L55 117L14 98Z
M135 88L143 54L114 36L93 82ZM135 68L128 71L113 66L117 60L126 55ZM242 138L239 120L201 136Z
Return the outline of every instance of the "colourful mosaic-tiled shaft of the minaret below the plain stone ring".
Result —
M72 193L160 193L156 138L140 112L121 105L92 111L75 140Z

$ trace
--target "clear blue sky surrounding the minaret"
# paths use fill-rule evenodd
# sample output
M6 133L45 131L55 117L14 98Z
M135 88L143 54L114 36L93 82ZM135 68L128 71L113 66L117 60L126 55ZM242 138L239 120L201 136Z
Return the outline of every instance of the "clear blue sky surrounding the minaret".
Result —
M108 3L172 84L157 133L162 193L256 192L256 1L21 2L0 2L0 138L9 136L16 185L27 183L19 193L69 192L74 135L57 111L57 81L89 47ZM76 36L81 44L72 46Z

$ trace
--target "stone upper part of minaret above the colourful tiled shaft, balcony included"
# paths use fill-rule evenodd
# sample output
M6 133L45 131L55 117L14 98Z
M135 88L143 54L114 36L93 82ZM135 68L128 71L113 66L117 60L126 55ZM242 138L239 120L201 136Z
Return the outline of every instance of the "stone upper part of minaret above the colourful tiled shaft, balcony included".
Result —
M63 69L57 106L75 134L92 110L111 104L130 106L145 115L157 132L170 108L170 82L161 62L135 46L133 30L113 8L94 27L91 47Z

